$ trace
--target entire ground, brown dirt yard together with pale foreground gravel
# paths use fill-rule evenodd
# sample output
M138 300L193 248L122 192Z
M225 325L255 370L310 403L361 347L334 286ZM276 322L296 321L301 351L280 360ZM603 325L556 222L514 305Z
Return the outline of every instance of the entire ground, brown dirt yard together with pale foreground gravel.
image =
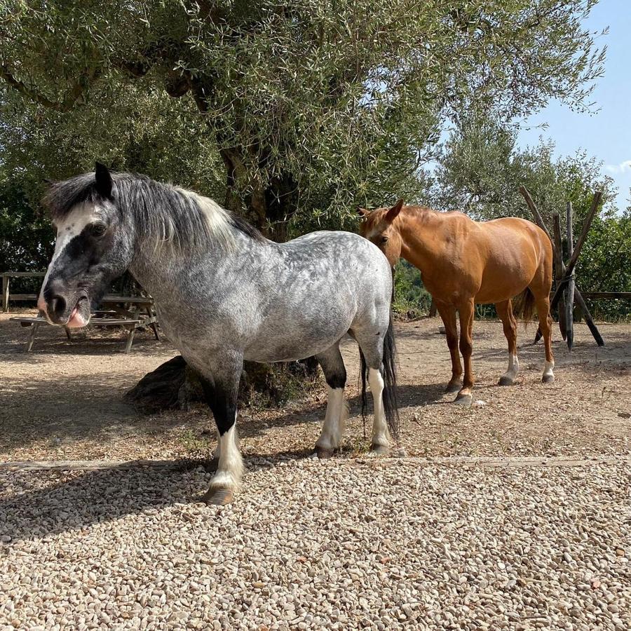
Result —
M631 327L584 325L555 342L557 380L524 342L506 369L501 323L475 323L475 405L449 405L437 320L396 327L402 446L362 455L357 349L343 348L344 456L308 457L324 388L278 410L244 409L243 489L198 501L214 443L208 409L140 416L122 393L175 351L139 334L36 351L0 314L0 461L184 459L167 468L0 468L3 629L631 628ZM531 337L534 330L527 334ZM556 333L555 333L556 334ZM556 336L558 337L558 335ZM581 466L482 466L467 456L607 456ZM451 464L450 464L451 463ZM513 461L513 463L515 463Z

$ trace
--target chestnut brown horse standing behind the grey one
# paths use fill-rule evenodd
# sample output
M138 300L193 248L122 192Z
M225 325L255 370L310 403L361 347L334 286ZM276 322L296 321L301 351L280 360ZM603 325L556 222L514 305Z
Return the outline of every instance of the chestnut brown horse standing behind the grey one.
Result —
M446 391L458 392L456 402L472 400L471 334L476 303L495 304L508 340L508 370L500 385L512 385L519 370L515 315L528 321L535 305L545 341L543 382L554 381L550 340L552 244L543 230L517 217L474 222L461 212L404 206L402 200L392 208L372 212L360 208L359 212L364 217L362 235L379 246L392 266L403 257L421 271L423 285L445 323L452 355L452 379ZM518 294L514 313L511 299ZM464 379L456 311L460 315Z

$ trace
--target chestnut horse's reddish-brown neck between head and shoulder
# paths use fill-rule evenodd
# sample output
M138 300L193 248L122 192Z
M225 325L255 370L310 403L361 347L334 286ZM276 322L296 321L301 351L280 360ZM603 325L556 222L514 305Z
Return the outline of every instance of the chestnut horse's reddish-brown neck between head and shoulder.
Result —
M424 208L405 209L398 217L401 256L422 273L427 273L432 261L440 256L443 247L437 231L440 220L440 215Z

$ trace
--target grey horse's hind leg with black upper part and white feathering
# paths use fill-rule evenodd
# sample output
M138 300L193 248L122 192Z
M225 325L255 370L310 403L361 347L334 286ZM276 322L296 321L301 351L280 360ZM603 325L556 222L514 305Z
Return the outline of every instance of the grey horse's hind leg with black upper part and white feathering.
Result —
M339 352L339 342L324 353L315 355L327 380L327 412L322 433L315 443L318 458L328 458L339 449L344 433L344 422L348 418L348 405L344 402L346 367Z

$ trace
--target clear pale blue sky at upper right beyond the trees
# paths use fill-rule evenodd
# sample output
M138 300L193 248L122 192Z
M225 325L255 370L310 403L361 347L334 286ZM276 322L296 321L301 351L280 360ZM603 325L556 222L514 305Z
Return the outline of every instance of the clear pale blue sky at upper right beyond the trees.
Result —
M550 138L556 155L575 154L585 149L604 163L604 172L618 186L618 207L631 202L631 0L600 0L585 20L585 27L609 33L596 39L597 46L607 46L604 76L597 80L590 95L592 114L578 114L558 102L527 119L529 129L522 128L518 144L525 148L538 138ZM548 123L548 128L536 128Z

